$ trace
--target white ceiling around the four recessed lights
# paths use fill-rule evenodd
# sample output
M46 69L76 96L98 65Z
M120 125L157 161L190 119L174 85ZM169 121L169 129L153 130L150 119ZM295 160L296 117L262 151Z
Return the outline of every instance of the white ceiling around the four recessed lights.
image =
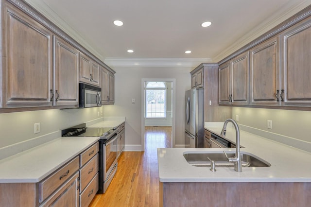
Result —
M101 59L217 62L311 0L26 0ZM113 24L122 20L121 27ZM201 27L211 21L210 27ZM128 53L127 50L134 50ZM192 51L186 54L185 51Z

